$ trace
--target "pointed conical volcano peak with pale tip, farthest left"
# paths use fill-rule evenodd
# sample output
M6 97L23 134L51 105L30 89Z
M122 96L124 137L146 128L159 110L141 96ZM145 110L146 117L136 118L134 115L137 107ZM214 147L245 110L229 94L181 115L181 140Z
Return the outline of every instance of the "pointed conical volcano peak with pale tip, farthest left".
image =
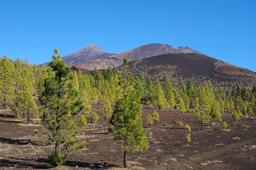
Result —
M71 65L76 63L88 62L98 58L105 58L111 55L115 55L115 54L107 53L102 49L100 49L99 47L97 47L96 45L90 44L85 48L79 51L76 51L75 53L62 57L62 60L66 61L68 65Z

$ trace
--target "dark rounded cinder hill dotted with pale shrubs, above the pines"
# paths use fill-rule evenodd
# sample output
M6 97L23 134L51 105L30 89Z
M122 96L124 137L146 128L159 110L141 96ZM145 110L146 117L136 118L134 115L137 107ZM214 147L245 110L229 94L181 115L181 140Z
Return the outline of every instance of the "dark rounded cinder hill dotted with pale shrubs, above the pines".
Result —
M167 67L169 64L169 67ZM128 63L128 71L138 75L140 71L153 81L166 75L175 85L180 76L191 78L198 86L209 78L216 88L230 88L233 83L251 87L256 84L256 74L202 54L168 54L134 60ZM122 66L118 67L123 70ZM242 70L242 71L241 71Z

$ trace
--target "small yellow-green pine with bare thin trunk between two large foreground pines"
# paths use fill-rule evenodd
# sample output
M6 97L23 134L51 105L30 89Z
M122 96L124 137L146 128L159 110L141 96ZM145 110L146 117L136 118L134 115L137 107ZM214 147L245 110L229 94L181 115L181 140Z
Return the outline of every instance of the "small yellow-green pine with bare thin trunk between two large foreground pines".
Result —
M101 106L100 106L100 113L104 116L104 132L106 131L106 118L109 118L112 114L112 107L110 105L110 101L108 99L107 93L103 95Z

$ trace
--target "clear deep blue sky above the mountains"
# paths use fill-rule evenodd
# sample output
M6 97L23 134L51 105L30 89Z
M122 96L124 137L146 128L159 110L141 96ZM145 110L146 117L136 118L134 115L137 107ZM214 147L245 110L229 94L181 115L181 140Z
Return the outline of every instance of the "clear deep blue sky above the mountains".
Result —
M50 61L95 44L190 47L256 71L256 1L0 1L0 56Z

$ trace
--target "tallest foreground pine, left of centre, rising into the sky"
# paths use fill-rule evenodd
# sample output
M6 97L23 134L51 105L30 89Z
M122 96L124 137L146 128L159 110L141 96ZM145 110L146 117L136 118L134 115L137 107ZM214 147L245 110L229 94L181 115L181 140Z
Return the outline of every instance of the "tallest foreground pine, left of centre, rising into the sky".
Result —
M53 61L49 62L48 77L44 83L44 91L40 95L42 105L49 112L46 116L48 129L52 132L44 137L55 145L54 152L49 155L51 165L58 166L67 158L60 150L75 152L84 148L80 139L74 139L79 132L73 115L78 115L84 109L83 101L73 85L73 73L70 67L61 60L58 49L54 49Z

